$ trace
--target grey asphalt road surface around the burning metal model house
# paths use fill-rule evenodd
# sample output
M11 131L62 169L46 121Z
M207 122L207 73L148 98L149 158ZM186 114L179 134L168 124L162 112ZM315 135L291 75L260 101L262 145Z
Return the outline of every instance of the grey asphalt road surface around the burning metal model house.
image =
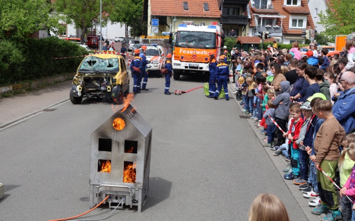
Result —
M203 82L182 76L172 80L171 91ZM246 221L253 200L266 192L284 202L290 220L307 220L234 100L207 99L203 89L167 96L164 83L149 79L150 90L132 102L153 128L143 212L117 210L108 221ZM89 210L90 134L113 111L90 100L53 109L0 131L1 221L67 218ZM102 206L82 219L111 211Z

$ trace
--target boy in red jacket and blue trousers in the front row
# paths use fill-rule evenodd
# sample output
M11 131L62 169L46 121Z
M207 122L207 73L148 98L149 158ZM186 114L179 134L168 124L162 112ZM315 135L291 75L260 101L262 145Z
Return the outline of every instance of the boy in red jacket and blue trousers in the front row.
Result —
M299 132L301 130L303 119L301 117L301 106L300 105L293 105L290 108L290 114L292 116L291 125L288 129L288 132L284 133L283 136L288 136L288 144L291 147L291 166L292 172L289 174L285 174L283 179L285 180L293 180L298 178L299 176L299 150L298 144L296 140L298 139Z

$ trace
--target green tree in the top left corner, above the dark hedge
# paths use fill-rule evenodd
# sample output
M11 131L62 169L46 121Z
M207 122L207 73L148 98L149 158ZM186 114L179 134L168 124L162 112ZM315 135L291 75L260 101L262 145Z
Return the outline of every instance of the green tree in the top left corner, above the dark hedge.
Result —
M39 30L57 32L60 16L48 0L0 0L0 38L27 37Z

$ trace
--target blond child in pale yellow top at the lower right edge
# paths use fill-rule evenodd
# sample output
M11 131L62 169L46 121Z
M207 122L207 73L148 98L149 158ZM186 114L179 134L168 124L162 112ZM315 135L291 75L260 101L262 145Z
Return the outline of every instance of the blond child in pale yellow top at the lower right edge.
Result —
M349 156L349 154L350 154L349 144L351 144L351 143L355 143L355 134L354 133L347 134L342 139L342 146L344 147L344 150L342 152L342 156L340 156L340 159L339 159L339 173L340 173L340 188L343 187L345 189L345 191L348 188L344 187L344 185L348 181L348 179L352 173L352 169L354 167L354 164L355 164L355 161L350 159L350 156ZM354 150L352 149L352 154L355 155L355 149ZM354 190L355 189L353 189L352 192L354 192ZM351 221L352 217L354 217L353 219L355 219L355 211L352 212L352 202L344 194L345 194L345 192L343 191L343 194L342 194L342 191L341 191L342 196L340 198L340 202L341 202L341 206L342 206L343 221ZM346 195L348 195L348 194L346 194ZM351 196L351 194L349 194L349 195ZM355 195L355 193L352 195Z

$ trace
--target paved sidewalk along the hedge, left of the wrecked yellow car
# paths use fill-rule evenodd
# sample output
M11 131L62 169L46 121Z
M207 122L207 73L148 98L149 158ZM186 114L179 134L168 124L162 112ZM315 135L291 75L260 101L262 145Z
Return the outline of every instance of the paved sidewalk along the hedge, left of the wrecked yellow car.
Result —
M69 100L72 81L48 86L38 91L0 98L0 128L26 116Z

